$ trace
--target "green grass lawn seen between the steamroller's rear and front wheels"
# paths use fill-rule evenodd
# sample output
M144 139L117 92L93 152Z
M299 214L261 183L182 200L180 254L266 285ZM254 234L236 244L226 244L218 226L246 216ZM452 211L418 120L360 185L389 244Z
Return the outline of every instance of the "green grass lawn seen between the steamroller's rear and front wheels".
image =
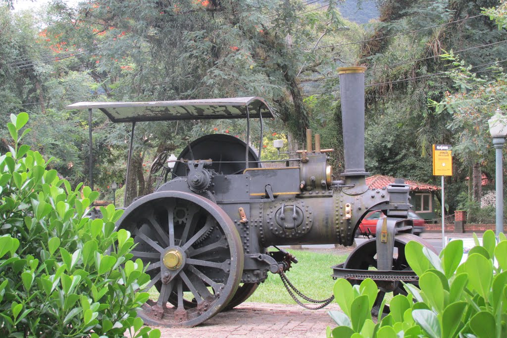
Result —
M335 284L331 277L333 273L331 267L343 263L347 255L316 253L307 250L288 251L299 261L286 272L289 281L310 298L320 300L330 297ZM271 273L268 273L268 279L259 285L247 302L295 304L294 299L283 286L280 276Z

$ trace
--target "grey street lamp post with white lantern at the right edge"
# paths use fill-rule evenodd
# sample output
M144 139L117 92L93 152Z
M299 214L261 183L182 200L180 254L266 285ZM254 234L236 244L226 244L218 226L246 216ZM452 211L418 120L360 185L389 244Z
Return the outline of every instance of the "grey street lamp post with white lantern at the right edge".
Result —
M505 135L507 135L507 118L501 114L500 108L497 108L495 115L488 120L489 132L493 137L493 146L495 147L495 233L498 236L503 232L503 144Z

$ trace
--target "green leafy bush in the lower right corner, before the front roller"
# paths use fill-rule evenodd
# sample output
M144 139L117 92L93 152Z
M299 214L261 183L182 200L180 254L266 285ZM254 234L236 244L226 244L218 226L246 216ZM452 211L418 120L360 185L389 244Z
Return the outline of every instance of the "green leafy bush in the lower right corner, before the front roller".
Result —
M474 235L475 236L475 235ZM440 256L418 242L409 242L405 253L419 276L419 287L405 284L408 295L396 295L390 314L372 321L370 311L377 296L375 283L364 280L351 286L338 280L335 298L342 312L330 312L338 327L328 327L328 337L340 338L501 338L507 336L507 240L484 233L483 245L468 252L461 264L463 242L450 242ZM384 306L382 302L381 310Z

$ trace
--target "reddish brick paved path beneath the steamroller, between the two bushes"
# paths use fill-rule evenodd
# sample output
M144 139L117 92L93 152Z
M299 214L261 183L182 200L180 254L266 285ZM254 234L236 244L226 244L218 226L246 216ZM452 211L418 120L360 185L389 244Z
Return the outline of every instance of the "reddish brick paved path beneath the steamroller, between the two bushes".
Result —
M160 328L161 338L325 337L325 328L336 326L329 310L340 308L336 303L315 311L299 305L243 303L194 328Z

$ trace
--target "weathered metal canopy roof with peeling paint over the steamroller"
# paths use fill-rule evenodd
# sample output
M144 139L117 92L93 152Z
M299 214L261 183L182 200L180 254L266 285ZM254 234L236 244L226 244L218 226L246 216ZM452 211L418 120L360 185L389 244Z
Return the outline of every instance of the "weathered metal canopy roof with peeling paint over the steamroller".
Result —
M66 109L97 108L112 122L243 119L246 107L250 118L274 118L266 101L257 96L206 100L154 102L78 102Z

